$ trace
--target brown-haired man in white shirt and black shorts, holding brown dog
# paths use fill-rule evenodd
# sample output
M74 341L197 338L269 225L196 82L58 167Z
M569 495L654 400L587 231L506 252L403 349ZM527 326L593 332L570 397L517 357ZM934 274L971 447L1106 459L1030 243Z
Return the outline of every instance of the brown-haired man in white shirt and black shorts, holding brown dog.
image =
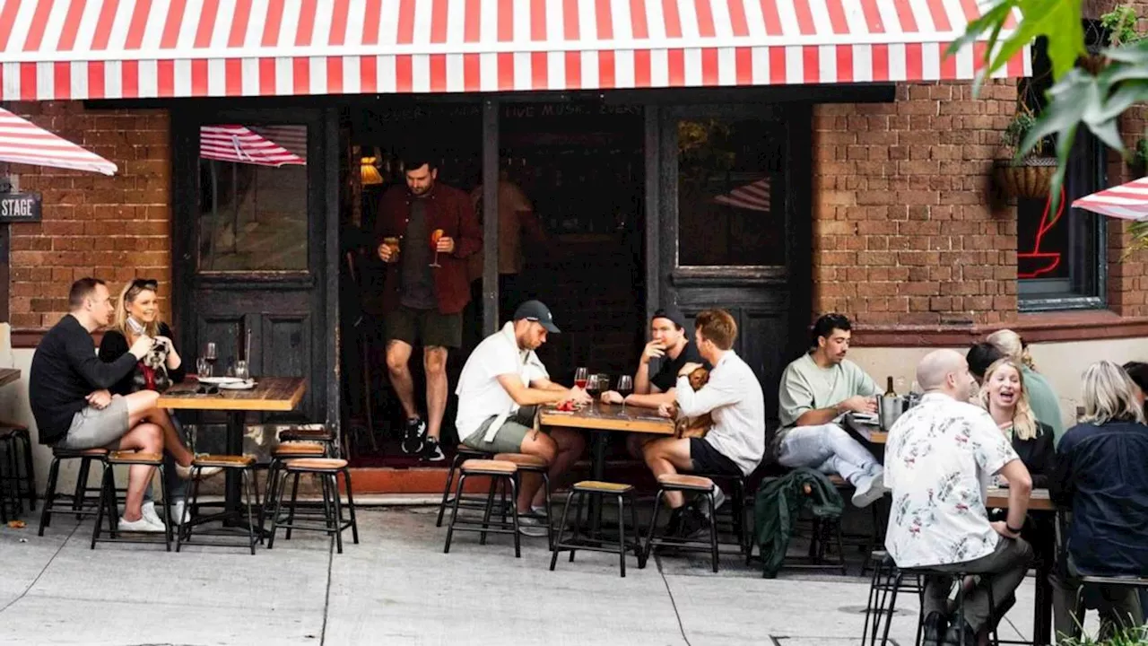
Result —
M693 471L748 476L766 451L766 405L761 385L745 361L734 352L737 323L728 312L705 310L695 318L695 341L701 357L713 366L709 382L696 391L689 375L698 363L687 363L677 372L675 397L678 414L697 417L706 413L713 426L704 438L659 438L645 445L643 454L654 477ZM668 405L659 410L667 413ZM669 492L673 509L669 533L691 536L707 526L701 509L685 509L681 492Z

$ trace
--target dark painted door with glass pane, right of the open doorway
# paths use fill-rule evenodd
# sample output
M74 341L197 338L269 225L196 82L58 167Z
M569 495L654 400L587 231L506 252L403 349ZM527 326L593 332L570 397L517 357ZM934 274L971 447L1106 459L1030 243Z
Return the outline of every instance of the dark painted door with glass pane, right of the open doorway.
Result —
M658 300L692 320L727 309L735 351L758 376L770 420L777 383L809 317L809 108L675 106L658 138L657 229L647 231ZM654 170L651 168L650 170Z

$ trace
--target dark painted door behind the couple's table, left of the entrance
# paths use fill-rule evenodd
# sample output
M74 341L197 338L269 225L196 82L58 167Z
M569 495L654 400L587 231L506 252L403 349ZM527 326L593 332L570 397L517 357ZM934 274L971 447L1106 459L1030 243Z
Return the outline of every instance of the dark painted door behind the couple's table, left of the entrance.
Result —
M215 343L217 376L247 359L253 376L305 377L296 410L265 420L338 424L333 115L178 109L173 130L172 277L184 356L193 361Z

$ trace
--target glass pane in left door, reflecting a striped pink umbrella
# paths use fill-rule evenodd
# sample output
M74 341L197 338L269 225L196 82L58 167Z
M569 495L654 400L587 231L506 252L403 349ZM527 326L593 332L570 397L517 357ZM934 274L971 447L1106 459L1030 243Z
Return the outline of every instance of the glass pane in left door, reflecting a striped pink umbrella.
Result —
M200 271L305 271L307 126L200 129Z

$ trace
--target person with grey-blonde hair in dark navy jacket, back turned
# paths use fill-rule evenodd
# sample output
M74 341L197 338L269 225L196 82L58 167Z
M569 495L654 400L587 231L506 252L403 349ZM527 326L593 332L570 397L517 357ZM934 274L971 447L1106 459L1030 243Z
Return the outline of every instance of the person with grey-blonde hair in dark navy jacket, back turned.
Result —
M1148 575L1148 425L1135 385L1118 364L1100 361L1084 374L1084 417L1061 439L1049 493L1072 517L1065 532L1066 561L1053 578L1057 635L1075 637L1084 625L1077 606L1080 576ZM1101 639L1119 625L1140 625L1134 589L1086 590L1101 614Z

